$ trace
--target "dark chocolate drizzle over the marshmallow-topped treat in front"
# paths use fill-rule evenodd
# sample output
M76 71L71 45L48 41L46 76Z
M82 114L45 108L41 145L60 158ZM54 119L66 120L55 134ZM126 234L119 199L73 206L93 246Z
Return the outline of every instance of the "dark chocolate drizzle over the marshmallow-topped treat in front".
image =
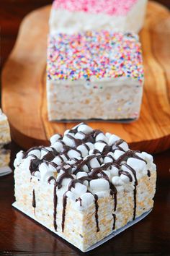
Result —
M60 176L58 176L57 181L55 180L55 178L53 176L50 176L50 178L48 179L48 183L50 183L52 180L54 180L54 188L53 188L53 226L55 231L57 231L58 226L56 223L56 217L57 217L57 204L58 204L58 197L57 197L57 190L61 189L62 187L62 182L63 179L71 179L71 182L69 182L68 184L68 190L63 194L63 212L62 212L62 223L61 223L61 227L62 227L62 231L64 231L64 224L65 224L65 219L66 219L66 205L67 205L67 195L66 193L68 191L71 191L71 188L75 187L76 183L81 183L83 184L84 181L90 182L91 180L94 179L105 179L107 180L107 182L109 182L109 189L110 189L110 195L112 195L112 198L114 199L114 212L117 209L117 189L115 187L114 184L112 184L112 182L109 181L109 177L107 176L107 174L104 173L104 171L107 171L108 168L112 168L112 166L115 166L118 169L118 173L119 176L121 174L128 176L130 182L133 182L133 177L135 179L135 188L133 191L133 200L134 200L134 208L133 208L133 220L135 219L135 215L136 215L136 194L137 194L137 185L138 185L138 180L137 180L137 176L136 176L136 172L135 170L129 166L126 161L128 160L128 158L136 158L140 161L144 161L145 163L147 163L145 160L143 160L143 158L140 158L136 153L138 153L138 151L133 151L133 150L128 150L125 151L122 147L121 144L124 142L124 140L120 139L117 140L116 142L113 142L112 145L107 145L107 142L105 142L104 140L97 140L96 141L96 137L97 135L99 135L100 133L102 133L100 130L98 129L94 129L92 132L90 132L89 134L85 134L84 132L79 132L80 135L82 135L82 139L78 139L76 137L74 137L74 135L78 132L78 127L75 127L74 129L70 129L69 133L66 134L65 136L68 137L68 139L73 141L73 147L70 147L68 145L65 145L65 143L63 142L63 138L60 137L58 139L58 142L61 142L63 145L63 149L61 150L61 152L58 152L57 150L55 150L55 148L50 147L50 148L44 148L43 146L40 147L35 147L35 148L31 148L30 150L27 150L26 153L24 153L23 158L27 158L27 156L32 156L32 159L30 161L30 172L32 174L32 176L35 174L35 171L39 171L39 166L41 163L46 163L48 166L51 165L54 168L56 168L56 171L58 172L58 174L60 173L60 171L63 171L63 174L61 174ZM87 142L91 142L91 143L95 143L95 142L101 142L104 143L104 148L102 153L97 150L97 149L93 149L91 155L87 155L86 158L82 157L82 153L81 150L78 150L77 147L79 145L84 145L84 148L86 148L86 150L90 150L91 148L89 147L89 145L87 145ZM30 152L32 150L43 150L45 151L45 155L43 155L43 157L41 159L37 158L36 155L31 154ZM68 157L68 151L69 150L75 150L77 153L79 153L79 155L81 156L81 159L76 159L76 158L71 158L71 160L74 161L74 163L66 163L66 161L70 160L70 158ZM108 154L109 152L115 153L115 150L121 150L122 151L122 155L120 155L119 158L117 158L117 160L115 160L115 158ZM29 154L30 153L30 154ZM44 153L44 152L43 152ZM55 157L60 158L61 163L57 164L55 162L53 162L53 159ZM109 163L103 163L102 164L102 158L110 158L110 162ZM91 160L93 158L96 158L97 161L99 162L99 167L97 168L91 168ZM60 161L59 161L60 162ZM66 167L67 166L67 167ZM87 176L83 176L80 179L75 179L72 174L77 174L80 171L84 171L84 166L86 166L88 168L88 172L87 172ZM128 171L123 171L121 169L122 166L125 166L126 168L128 168L133 175L130 174L130 172ZM148 170L148 176L151 176L151 172ZM87 190L87 192L89 192L89 190ZM92 192L90 192L92 194ZM98 210L99 210L99 205L98 205L98 197L96 194L92 194L94 195L94 205L95 205L95 220L96 220L96 224L97 224L97 232L99 231L99 219L98 219ZM80 202L80 206L81 205L81 197L77 198L76 201ZM35 208L36 207L36 202L35 202L35 189L33 189L32 192L32 207ZM112 229L115 229L115 222L116 222L116 215L115 213L112 213L113 216L113 227Z

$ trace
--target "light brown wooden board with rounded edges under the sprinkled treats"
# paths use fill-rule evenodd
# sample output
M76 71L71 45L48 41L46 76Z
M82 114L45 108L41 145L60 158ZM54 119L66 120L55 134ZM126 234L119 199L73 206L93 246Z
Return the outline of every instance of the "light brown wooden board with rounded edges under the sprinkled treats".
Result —
M49 14L50 6L24 18L2 74L2 108L9 118L13 139L23 148L48 145L51 135L74 125L48 121L45 61ZM119 135L133 149L156 153L170 148L168 9L149 2L140 40L146 77L140 119L131 124L89 124Z

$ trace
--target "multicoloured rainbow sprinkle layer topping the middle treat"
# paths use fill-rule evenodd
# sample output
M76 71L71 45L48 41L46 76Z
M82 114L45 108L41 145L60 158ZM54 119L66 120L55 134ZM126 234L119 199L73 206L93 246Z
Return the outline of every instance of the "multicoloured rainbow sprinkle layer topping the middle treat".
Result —
M49 80L130 77L142 83L138 35L106 30L49 35L47 73Z

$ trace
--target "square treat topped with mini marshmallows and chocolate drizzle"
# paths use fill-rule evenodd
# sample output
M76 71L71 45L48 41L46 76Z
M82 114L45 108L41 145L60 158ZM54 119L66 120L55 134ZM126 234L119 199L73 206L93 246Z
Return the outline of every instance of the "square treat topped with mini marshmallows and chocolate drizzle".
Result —
M15 206L81 251L153 208L148 153L83 123L50 142L17 153Z

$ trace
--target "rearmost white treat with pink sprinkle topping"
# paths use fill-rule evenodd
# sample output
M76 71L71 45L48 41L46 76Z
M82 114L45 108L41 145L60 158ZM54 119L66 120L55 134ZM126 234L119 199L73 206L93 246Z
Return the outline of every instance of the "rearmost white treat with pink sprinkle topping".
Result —
M147 0L55 0L50 33L83 30L133 31L143 27Z

